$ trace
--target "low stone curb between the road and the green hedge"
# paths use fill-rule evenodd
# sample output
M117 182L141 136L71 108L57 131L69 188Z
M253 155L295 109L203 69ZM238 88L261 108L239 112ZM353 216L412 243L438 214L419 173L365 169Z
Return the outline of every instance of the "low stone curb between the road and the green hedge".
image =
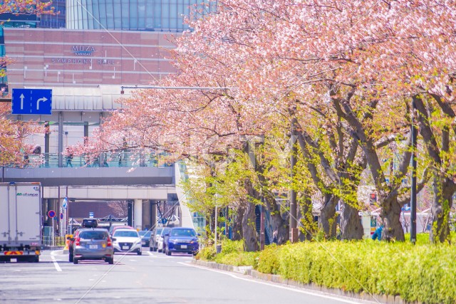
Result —
M354 293L352 291L345 291L341 289L336 289L336 288L326 288L321 285L316 285L314 283L311 284L304 284L300 282L296 282L293 280L289 280L286 278L282 278L279 275L273 275L270 273L260 273L259 271L256 271L252 268L252 266L232 266L232 265L225 265L225 264L219 264L215 262L207 262L207 261L201 261L201 260L192 260L192 263L207 267L207 268L214 268L214 269L219 269L221 271L232 271L236 273L242 273L247 276L251 276L252 278L257 278L263 281L269 281L273 283L280 283L284 285L290 285L298 288L305 288L305 289L311 289L311 290L316 290L322 293L328 293L332 295L343 295L346 297L350 298L355 298L358 300L368 300L368 301L375 301L373 297L378 301L378 303L385 303L385 304L409 304L409 302L404 301L402 298L400 298L399 295L371 295L369 293ZM414 304L421 304L418 302L414 302Z

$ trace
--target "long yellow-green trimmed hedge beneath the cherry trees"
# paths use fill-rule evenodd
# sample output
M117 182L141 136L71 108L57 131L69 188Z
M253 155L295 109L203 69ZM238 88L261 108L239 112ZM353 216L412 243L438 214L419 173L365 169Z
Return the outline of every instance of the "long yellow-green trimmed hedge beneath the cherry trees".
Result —
M262 273L328 288L456 303L454 246L372 240L304 242L270 246L254 266Z

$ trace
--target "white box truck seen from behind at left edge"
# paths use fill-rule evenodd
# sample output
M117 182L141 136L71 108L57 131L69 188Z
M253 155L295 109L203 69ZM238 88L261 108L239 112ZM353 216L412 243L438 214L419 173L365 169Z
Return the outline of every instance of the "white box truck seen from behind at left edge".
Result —
M0 183L0 261L38 262L41 251L41 184Z

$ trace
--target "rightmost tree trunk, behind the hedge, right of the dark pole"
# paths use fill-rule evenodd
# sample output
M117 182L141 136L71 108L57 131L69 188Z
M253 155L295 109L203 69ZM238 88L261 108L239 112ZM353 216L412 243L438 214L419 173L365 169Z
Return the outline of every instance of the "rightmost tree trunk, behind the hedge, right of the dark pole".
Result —
M432 200L432 229L430 231L430 241L432 243L450 242L450 209L452 207L452 195L455 183L442 174L434 176L432 187L434 198Z

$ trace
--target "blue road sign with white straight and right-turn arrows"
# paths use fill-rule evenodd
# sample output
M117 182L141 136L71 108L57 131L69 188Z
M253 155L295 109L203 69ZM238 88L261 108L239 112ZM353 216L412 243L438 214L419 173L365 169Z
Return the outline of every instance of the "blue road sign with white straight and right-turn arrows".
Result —
M13 89L11 98L12 114L52 114L52 90Z

